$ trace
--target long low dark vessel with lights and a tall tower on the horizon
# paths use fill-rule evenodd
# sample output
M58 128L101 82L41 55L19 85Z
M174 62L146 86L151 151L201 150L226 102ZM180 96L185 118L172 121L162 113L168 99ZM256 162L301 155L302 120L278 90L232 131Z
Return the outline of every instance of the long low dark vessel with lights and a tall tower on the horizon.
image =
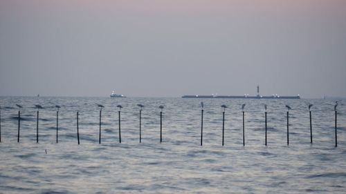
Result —
M280 95L271 95L271 96L261 96L260 95L260 86L257 86L257 95L243 95L243 96L219 96L219 95L184 95L182 98L232 98L232 99L300 99L300 95L296 96L280 96Z

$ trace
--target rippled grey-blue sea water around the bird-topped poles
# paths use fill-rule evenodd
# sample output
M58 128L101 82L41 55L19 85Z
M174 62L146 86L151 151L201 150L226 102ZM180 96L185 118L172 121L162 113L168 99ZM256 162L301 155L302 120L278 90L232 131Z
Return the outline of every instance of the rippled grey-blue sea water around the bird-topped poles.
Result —
M0 97L0 193L345 193L346 101L334 100L110 97ZM242 140L242 108L245 139ZM310 144L308 104L313 104ZM17 143L18 108L21 137ZM36 143L35 104L39 110ZM56 144L56 108L59 144ZM102 144L98 144L99 110ZM118 139L118 108L122 143ZM139 108L142 143L139 144ZM221 146L226 104L225 146ZM264 146L268 104L268 146ZM290 111L286 145L286 108ZM340 105L343 104L343 105ZM160 144L160 109L163 142ZM79 111L80 145L76 134ZM47 153L46 153L47 152Z

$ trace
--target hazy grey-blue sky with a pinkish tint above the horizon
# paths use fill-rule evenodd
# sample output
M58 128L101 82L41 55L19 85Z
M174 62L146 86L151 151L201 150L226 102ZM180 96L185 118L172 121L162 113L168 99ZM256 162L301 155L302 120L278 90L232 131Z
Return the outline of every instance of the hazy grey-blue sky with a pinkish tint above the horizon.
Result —
M0 95L346 97L344 0L0 0Z

